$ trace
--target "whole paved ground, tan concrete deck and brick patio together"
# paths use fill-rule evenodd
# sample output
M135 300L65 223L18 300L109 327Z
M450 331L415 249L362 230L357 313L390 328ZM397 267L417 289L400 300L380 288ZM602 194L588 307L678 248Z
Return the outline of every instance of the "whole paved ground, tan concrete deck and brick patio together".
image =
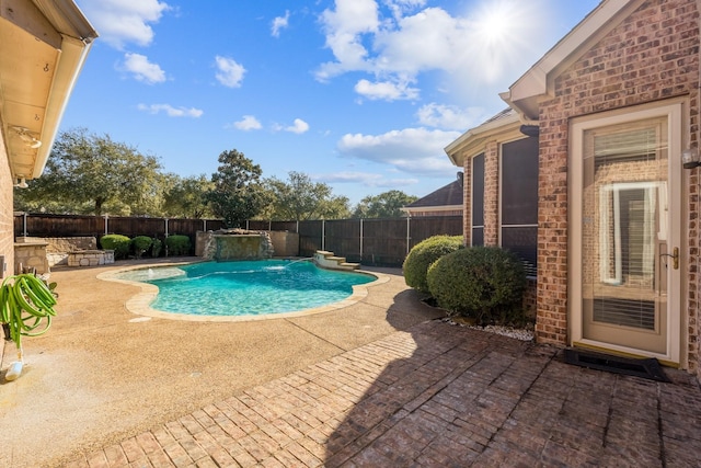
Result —
M138 288L105 270L51 275L56 323L0 385L0 466L700 466L691 375L430 320L398 270L346 308L253 322L131 321Z

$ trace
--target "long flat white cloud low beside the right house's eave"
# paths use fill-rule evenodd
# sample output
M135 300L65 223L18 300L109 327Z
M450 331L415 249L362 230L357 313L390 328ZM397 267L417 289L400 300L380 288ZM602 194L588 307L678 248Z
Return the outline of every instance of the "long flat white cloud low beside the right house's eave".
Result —
M450 175L455 167L444 148L459 136L459 132L405 128L381 135L346 134L337 146L343 156L392 165L403 172Z

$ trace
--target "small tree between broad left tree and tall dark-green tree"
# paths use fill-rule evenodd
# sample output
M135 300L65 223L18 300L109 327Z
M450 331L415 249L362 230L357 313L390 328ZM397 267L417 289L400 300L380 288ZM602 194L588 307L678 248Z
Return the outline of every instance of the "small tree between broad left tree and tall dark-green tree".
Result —
M181 178L165 174L166 187L163 190L163 214L172 218L211 217L207 194L214 183L205 174Z

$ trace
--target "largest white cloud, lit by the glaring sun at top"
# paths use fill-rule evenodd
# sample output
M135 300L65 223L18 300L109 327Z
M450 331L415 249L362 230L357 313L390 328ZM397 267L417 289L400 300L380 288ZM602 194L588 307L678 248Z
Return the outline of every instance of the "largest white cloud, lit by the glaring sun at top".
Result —
M547 41L547 3L493 0L451 15L443 8L425 8L425 0L384 0L383 9L374 0L337 0L334 10L321 15L334 60L321 64L315 77L329 81L349 71L367 72L374 79L363 80L356 91L366 96L374 91L386 96L381 99L392 93L368 87L372 81L378 87L414 83L426 71L455 76L462 88L517 78Z

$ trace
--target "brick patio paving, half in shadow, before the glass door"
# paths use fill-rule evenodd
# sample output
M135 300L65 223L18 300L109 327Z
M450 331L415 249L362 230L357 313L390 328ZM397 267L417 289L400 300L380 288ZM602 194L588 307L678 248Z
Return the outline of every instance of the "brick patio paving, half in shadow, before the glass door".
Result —
M699 467L701 390L429 321L85 454L97 467Z

